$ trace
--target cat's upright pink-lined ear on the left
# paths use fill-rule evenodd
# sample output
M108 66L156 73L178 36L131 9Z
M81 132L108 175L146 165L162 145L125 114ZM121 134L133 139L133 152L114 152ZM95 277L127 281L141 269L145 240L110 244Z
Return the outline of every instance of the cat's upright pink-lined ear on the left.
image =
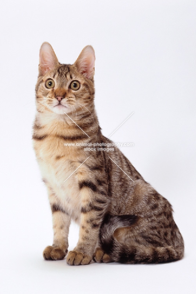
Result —
M53 69L59 64L52 46L44 42L39 50L39 74L44 75L46 71Z

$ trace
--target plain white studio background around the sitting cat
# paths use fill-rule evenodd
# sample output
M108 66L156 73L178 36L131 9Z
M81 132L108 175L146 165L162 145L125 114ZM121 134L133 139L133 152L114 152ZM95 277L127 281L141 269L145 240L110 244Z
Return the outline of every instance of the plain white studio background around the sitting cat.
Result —
M196 2L2 1L1 293L195 293ZM31 143L39 48L61 63L95 49L95 105L110 137L165 196L185 258L162 265L44 261L52 220ZM69 248L77 243L72 225Z

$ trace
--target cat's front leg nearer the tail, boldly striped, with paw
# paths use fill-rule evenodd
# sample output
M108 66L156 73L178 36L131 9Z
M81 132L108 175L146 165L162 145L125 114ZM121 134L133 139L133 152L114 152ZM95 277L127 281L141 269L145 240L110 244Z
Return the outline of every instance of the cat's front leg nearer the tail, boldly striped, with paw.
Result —
M92 193L90 189L94 186L83 189L79 240L73 251L67 254L69 265L89 264L99 240L99 228L102 223L104 213L107 209L107 197L103 191Z

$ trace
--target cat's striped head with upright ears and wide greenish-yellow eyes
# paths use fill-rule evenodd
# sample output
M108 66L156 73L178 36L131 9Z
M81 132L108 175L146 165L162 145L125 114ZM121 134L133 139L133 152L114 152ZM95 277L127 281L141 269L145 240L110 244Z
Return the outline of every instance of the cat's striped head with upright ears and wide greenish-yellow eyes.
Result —
M39 52L36 84L37 111L64 114L94 107L94 63L92 46L86 46L74 64L60 64L52 46L44 42Z

